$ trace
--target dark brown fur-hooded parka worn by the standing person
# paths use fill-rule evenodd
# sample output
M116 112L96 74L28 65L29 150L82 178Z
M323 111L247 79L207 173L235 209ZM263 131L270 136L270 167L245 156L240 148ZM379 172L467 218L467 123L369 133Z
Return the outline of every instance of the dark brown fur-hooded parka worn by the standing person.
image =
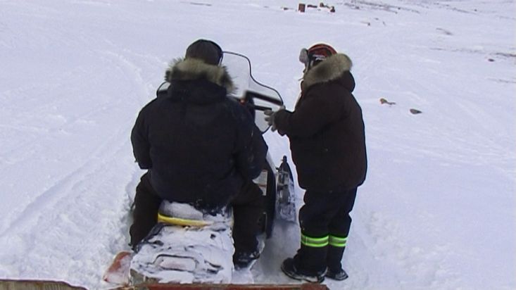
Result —
M310 191L353 189L367 171L362 109L351 92L351 59L329 56L308 70L295 111L275 113L279 134L287 134L298 182Z

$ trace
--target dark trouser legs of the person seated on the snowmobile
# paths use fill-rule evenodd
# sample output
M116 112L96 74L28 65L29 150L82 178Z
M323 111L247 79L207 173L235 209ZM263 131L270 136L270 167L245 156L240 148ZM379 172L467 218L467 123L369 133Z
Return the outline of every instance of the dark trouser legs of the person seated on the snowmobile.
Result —
M163 199L154 191L149 176L145 173L136 187L133 222L130 227L131 246L143 240L157 223L158 210ZM235 253L253 252L258 246L258 220L263 213L263 196L260 187L249 180L231 203L234 225Z

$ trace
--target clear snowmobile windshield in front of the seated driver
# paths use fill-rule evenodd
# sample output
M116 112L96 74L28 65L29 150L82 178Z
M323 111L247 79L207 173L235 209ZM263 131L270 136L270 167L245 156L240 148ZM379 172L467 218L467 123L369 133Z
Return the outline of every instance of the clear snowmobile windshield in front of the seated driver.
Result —
M276 89L258 82L251 73L251 61L246 56L224 51L222 65L227 68L236 89L232 92L235 99L253 109L254 121L261 132L269 129L265 121L265 110L277 111L283 105L282 97Z

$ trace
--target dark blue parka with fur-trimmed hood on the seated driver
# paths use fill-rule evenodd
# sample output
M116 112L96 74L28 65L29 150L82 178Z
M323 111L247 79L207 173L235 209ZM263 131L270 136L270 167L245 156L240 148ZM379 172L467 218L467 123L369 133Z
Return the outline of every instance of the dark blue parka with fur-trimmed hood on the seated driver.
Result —
M248 110L227 96L225 68L186 58L165 80L167 94L141 109L133 127L134 156L161 198L220 210L260 174L265 141Z

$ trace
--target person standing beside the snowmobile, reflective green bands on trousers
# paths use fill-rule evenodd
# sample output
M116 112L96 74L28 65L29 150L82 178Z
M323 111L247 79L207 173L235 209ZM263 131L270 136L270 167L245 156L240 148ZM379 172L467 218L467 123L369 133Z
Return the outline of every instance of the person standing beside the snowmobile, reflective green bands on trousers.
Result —
M341 260L357 187L367 157L362 110L353 94L351 59L332 46L302 49L305 70L294 112L268 111L265 118L290 140L299 185L306 189L299 212L301 248L282 263L291 278L322 282L348 277Z

